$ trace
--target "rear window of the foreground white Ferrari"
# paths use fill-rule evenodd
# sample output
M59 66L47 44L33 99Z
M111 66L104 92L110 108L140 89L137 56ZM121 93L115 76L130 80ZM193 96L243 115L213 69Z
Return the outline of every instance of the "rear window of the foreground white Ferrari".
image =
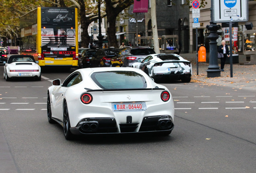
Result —
M93 81L102 89L145 89L145 78L133 71L95 72Z

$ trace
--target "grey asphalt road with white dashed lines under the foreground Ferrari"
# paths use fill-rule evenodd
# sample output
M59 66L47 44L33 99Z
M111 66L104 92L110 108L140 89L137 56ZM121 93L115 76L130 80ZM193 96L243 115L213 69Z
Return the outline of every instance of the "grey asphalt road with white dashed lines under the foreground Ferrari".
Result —
M164 83L175 104L168 137L67 141L60 125L48 123L46 101L51 80L68 74L44 72L41 81L0 78L0 173L255 173L255 92Z

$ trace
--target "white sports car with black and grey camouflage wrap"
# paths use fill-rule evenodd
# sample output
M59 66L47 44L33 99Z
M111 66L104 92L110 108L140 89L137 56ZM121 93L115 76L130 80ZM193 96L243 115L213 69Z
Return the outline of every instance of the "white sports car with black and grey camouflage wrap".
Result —
M168 76L190 82L192 75L190 62L178 54L151 54L132 64L132 67L139 68L152 78Z

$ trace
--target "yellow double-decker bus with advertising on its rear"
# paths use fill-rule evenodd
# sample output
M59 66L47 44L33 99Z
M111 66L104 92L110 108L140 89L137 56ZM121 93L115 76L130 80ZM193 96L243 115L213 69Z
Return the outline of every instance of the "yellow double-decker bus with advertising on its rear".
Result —
M78 65L77 8L38 7L21 16L21 54L39 66Z

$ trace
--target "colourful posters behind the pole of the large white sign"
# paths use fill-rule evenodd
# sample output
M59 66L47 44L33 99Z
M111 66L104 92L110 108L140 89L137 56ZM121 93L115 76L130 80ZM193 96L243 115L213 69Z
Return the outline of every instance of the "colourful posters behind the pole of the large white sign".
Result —
M229 27L222 28L224 32L224 40L226 41L226 44L229 45ZM237 54L237 31L238 27L232 27L232 53L233 55ZM229 48L229 51L231 49Z

